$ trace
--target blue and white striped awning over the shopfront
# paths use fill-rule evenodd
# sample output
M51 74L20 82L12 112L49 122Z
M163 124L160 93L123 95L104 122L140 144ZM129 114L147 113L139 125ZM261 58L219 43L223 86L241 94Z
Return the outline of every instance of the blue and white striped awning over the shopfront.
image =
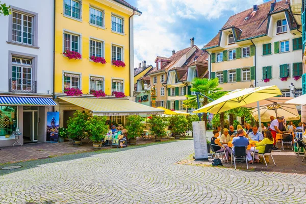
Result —
M57 106L50 97L0 96L0 106Z

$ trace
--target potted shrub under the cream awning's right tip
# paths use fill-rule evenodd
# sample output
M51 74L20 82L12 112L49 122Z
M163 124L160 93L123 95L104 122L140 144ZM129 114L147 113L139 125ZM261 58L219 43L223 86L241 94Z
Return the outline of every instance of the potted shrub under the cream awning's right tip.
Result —
M149 118L150 123L150 132L155 135L155 141L160 142L162 141L163 137L167 136L166 133L166 126L167 122L161 116L152 116Z

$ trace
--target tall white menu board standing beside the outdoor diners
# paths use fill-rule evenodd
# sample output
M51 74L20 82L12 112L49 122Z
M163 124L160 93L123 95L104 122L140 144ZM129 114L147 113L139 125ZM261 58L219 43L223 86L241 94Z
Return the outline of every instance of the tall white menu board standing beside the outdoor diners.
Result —
M208 160L205 122L192 122L192 133L194 145L194 159Z

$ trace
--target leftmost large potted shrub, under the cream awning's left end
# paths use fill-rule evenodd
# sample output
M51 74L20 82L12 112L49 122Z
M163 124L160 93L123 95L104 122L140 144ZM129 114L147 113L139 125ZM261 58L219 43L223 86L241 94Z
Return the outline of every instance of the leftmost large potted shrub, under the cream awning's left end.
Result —
M73 145L81 145L82 139L86 136L86 121L89 115L85 111L75 111L73 117L67 121L67 133L73 139Z

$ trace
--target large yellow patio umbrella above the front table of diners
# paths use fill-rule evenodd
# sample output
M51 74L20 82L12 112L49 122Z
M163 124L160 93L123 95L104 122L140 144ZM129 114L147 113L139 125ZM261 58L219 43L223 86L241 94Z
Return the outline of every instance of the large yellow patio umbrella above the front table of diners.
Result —
M282 92L277 86L237 89L193 111L193 113L217 114L281 94Z

